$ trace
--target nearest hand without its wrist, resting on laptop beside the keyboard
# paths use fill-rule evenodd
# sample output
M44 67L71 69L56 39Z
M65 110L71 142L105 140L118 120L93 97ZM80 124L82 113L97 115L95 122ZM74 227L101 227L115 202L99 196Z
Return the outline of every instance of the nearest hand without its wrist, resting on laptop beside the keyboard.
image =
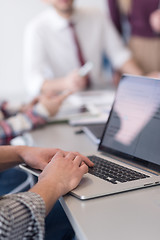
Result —
M87 157L58 151L40 174L39 181L46 181L49 186L56 184L53 191L60 197L77 187L88 166L93 167L93 163Z

